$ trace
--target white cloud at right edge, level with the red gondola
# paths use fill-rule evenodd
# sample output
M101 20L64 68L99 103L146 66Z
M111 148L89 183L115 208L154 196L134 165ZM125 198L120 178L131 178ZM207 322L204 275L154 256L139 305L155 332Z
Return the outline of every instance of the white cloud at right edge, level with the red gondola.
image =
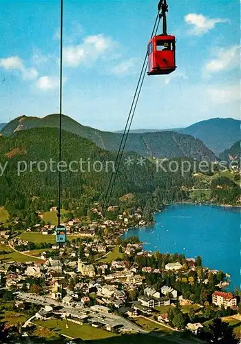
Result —
M205 72L220 72L230 70L240 65L240 45L234 45L228 49L219 49L216 58L205 65Z

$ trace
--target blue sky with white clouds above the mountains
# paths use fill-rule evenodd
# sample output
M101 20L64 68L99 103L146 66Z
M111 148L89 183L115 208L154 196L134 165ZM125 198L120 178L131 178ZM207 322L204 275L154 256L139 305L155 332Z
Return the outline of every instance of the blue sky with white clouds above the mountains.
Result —
M156 0L64 0L63 112L123 129ZM169 0L176 72L147 76L132 129L240 118L240 0ZM0 122L59 111L59 1L0 0Z

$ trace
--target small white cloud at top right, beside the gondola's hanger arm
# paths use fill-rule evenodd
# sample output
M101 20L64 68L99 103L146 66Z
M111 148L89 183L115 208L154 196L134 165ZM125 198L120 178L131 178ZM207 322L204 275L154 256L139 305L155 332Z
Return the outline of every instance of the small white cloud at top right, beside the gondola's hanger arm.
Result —
M209 30L215 28L218 23L227 23L227 19L213 18L209 19L202 14L189 13L185 17L185 22L192 25L193 28L189 31L190 34L198 36L200 34L205 34Z

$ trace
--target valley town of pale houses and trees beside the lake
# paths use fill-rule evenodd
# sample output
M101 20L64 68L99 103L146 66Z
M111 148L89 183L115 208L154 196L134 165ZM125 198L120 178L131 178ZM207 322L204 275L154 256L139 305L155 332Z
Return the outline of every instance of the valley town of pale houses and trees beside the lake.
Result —
M93 208L94 220L84 224L66 219L61 224L67 241L60 248L50 223L42 221L20 235L17 220L11 230L1 227L1 247L30 259L1 259L0 264L1 303L10 299L13 312L29 314L20 336L30 336L33 326L54 324L72 339L78 337L71 336L74 326L94 327L104 337L138 333L170 341L170 334L188 334L205 341L210 319L239 322L240 292L222 290L229 275L203 267L201 257L149 252L138 237L123 239L130 226L147 222L141 208L132 215L117 208L109 206L105 218L96 217L99 211ZM29 236L42 239L34 242Z

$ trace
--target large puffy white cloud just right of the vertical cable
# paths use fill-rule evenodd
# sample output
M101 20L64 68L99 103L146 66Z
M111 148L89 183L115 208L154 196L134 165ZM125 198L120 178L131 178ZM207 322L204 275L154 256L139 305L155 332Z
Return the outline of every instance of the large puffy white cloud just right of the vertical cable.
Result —
M77 67L82 63L90 65L98 58L101 58L106 52L112 50L115 42L112 38L103 34L87 36L83 43L78 45L69 45L63 50L63 61L70 67Z

